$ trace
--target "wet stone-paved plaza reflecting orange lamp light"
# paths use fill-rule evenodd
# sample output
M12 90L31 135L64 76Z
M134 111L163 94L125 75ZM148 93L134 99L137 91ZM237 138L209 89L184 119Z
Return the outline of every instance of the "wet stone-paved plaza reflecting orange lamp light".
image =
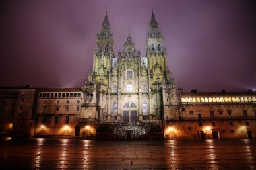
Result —
M256 140L0 142L0 169L256 169Z

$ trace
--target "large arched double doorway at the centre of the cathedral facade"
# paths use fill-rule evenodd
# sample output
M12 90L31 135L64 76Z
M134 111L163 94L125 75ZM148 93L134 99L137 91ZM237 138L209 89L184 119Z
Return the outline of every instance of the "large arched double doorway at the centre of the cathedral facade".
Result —
M123 106L123 122L137 122L137 106L135 103L128 102Z

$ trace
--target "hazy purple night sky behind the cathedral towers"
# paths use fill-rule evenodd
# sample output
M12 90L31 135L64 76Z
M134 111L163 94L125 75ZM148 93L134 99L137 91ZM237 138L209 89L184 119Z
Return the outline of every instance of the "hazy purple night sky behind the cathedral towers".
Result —
M131 30L145 56L151 10L184 91L256 89L253 1L1 1L0 86L82 87L106 7L115 56Z

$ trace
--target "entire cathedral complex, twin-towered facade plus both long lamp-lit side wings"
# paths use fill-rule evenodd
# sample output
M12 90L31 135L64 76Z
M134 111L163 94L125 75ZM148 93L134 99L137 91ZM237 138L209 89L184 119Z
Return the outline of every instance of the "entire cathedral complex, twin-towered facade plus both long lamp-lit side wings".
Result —
M105 15L81 88L0 87L1 136L99 139L255 138L256 93L184 92L152 11L146 54L131 35L114 55Z

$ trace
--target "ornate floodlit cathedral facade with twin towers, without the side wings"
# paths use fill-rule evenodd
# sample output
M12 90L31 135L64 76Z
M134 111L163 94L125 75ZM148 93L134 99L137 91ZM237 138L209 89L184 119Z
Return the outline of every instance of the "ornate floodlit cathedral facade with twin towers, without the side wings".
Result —
M86 97L82 118L137 122L162 120L178 101L177 86L166 64L164 36L152 11L146 38L146 56L135 49L129 35L118 58L105 15L97 34L93 69L84 83Z

